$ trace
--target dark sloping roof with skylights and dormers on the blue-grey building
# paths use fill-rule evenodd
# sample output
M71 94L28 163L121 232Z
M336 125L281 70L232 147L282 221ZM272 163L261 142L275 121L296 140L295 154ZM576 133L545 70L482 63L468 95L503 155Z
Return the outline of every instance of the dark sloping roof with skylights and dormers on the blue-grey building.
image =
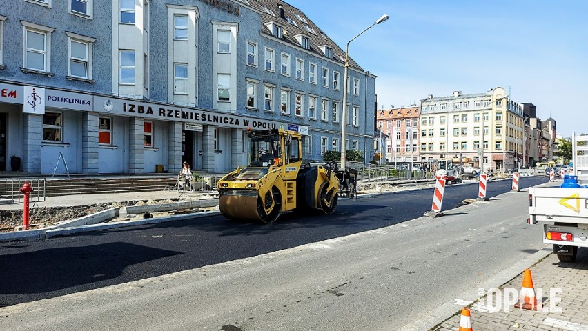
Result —
M290 43L293 46L297 46L300 49L300 43L296 40L295 36L298 34L303 34L304 37L308 37L311 41L311 48L308 52L311 52L317 57L323 57L326 59L326 56L320 49L320 46L329 46L333 50L333 58L331 60L340 63L341 66L345 64L345 51L342 50L326 33L321 30L311 19L309 19L304 12L300 9L291 6L290 4L284 1L276 1L276 0L248 0L250 5L262 12L262 29L261 32L268 35L273 35L272 32L266 26L268 22L275 22L278 25L283 27L283 37L282 41L286 43ZM284 17L280 17L280 10L278 9L278 5L281 4L282 8L284 9ZM273 12L269 14L264 10L264 7L268 10ZM300 18L299 18L300 17ZM307 28L308 27L308 28ZM311 31L308 31L311 30ZM361 71L365 71L360 65L355 63L351 57L349 57L349 66L356 68Z

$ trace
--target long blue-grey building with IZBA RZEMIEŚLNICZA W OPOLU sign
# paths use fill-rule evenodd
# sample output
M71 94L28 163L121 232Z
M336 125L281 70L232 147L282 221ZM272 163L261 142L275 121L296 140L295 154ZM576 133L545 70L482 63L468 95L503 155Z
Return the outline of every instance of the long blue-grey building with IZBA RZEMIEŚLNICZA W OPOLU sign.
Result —
M341 148L344 55L283 1L0 1L0 171L228 172L249 128L297 130L322 159ZM366 160L374 85L351 60L346 146Z

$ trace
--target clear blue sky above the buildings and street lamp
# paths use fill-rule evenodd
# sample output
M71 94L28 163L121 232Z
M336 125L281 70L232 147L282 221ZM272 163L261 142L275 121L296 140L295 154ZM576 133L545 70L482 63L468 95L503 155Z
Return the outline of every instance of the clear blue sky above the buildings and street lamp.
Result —
M564 137L588 134L587 0L286 0L378 76L379 108L429 94L502 86L553 117Z

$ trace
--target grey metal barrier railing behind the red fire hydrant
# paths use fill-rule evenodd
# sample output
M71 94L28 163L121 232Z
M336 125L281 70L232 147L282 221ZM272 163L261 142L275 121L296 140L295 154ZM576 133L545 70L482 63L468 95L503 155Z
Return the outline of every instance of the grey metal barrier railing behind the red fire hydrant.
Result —
M17 179L0 179L0 204L23 203L24 197L19 192L19 188L22 188L25 183L29 183L33 188L29 200L31 203L45 201L47 190L46 178L23 177Z

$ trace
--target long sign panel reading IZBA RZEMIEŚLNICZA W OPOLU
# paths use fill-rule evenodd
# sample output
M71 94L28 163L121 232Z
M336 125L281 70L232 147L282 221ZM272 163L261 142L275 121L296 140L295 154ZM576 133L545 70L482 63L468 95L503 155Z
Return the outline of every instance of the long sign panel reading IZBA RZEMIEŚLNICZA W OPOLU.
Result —
M272 129L278 128L282 124L276 121L243 117L231 113L207 112L206 110L157 105L154 103L140 103L106 97L94 97L94 105L94 110L97 112L104 112L106 110L106 112L111 114L123 116L199 123L227 128Z

